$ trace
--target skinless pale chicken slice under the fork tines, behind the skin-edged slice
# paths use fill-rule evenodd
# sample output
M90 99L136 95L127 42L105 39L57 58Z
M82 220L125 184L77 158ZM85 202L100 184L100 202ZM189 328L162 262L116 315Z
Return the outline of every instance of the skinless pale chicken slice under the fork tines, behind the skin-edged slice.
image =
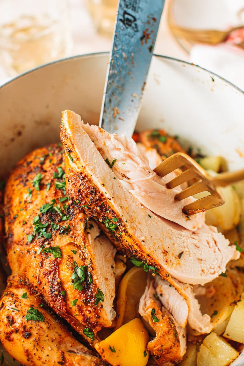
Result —
M133 139L127 139L125 135L110 134L94 125L83 124L82 128L104 160L107 159L109 162L116 160L111 167L116 178L124 183L128 191L142 205L185 228L196 230L202 227L205 220L204 213L192 215L189 220L182 212L183 207L195 199L189 197L175 201L174 196L179 190L166 187L164 178L151 170L149 161Z

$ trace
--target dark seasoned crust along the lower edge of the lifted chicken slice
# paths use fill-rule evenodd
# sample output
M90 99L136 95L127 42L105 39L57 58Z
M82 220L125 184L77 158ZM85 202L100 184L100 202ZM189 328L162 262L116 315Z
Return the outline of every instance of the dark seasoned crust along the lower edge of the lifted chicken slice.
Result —
M61 141L64 143L67 154L72 154L74 161L78 161L79 157L76 153L75 147L67 134L65 128L61 124ZM132 237L128 232L127 227L124 225L121 217L113 209L110 204L109 198L105 197L99 188L94 184L90 174L87 172L86 167L82 166L79 172L73 170L70 165L70 161L66 161L66 182L67 182L67 194L72 197L79 205L85 206L86 213L97 220L97 224L112 241L112 243L123 252L127 257L135 257L140 261L146 262L147 265L153 266L155 272L159 273L163 279L167 279L170 282L170 275L166 272L162 266L157 268L157 264L149 253L145 253L141 244ZM117 228L115 231L109 230L108 223L113 224L113 219L117 219ZM165 255L167 255L165 250ZM154 273L155 273L154 272ZM153 274L154 274L153 273Z

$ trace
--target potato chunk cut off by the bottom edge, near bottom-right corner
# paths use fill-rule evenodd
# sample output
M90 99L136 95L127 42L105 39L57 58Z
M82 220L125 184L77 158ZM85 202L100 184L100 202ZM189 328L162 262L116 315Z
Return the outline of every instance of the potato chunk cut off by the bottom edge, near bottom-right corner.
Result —
M222 337L210 333L204 338L197 355L198 366L228 366L239 356Z

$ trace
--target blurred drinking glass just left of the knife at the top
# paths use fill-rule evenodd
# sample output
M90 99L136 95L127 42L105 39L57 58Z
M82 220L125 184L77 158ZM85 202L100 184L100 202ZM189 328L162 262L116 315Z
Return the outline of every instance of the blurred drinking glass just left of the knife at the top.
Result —
M118 0L87 0L87 4L97 31L112 36Z

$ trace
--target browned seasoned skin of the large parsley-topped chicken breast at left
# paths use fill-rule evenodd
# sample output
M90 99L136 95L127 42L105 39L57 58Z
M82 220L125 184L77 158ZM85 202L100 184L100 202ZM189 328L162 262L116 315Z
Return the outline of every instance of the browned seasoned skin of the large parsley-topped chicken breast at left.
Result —
M63 146L51 145L29 153L11 173L5 189L8 262L13 273L18 273L38 288L48 305L80 334L83 334L85 327L97 332L103 325L100 318L102 303L95 305L98 285L96 279L90 283L88 276L88 272L91 275L93 272L87 239L90 225L80 206L69 199L59 201L64 193L55 188L55 182L62 183L64 178L54 178L53 175L58 173L57 167L64 170L62 164ZM33 187L33 180L39 173L42 178L38 191ZM41 213L40 207L52 203L53 199L61 214L54 209ZM46 233L50 233L51 238L37 238L34 235L29 243L28 235L34 234L33 218L37 215L39 223L48 224ZM59 246L62 258L54 258L52 253L42 253L42 249L49 246ZM82 291L75 289L71 283L74 261L78 266L86 266ZM63 295L62 291L66 294ZM78 299L77 304L72 306L71 302L75 299ZM87 340L91 341L90 338Z

